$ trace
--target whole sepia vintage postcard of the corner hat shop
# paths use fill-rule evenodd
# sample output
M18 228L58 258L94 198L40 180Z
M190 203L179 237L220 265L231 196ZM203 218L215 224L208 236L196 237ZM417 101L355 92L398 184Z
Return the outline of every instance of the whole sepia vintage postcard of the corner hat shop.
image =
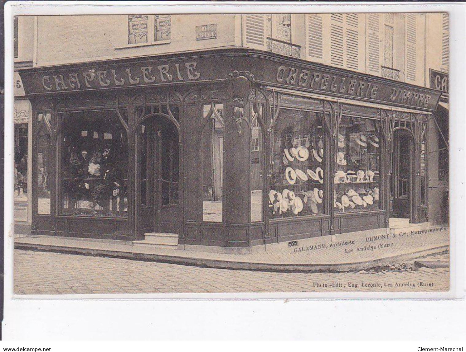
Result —
M12 21L15 297L450 290L449 13Z

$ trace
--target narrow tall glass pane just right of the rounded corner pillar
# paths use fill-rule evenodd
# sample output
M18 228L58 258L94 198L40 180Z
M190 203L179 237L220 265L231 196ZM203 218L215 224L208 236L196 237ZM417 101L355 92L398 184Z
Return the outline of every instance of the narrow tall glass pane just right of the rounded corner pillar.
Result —
M259 106L259 111L252 108L251 117L251 163L249 169L250 186L251 186L251 221L262 221L262 165L263 165L263 147L262 147L262 129L260 128L259 118L263 116L264 107Z

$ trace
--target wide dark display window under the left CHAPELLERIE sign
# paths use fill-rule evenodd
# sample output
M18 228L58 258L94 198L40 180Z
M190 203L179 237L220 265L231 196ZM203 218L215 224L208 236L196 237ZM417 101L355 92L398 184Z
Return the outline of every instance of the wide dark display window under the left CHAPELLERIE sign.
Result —
M127 216L128 143L114 112L71 114L61 154L62 214Z

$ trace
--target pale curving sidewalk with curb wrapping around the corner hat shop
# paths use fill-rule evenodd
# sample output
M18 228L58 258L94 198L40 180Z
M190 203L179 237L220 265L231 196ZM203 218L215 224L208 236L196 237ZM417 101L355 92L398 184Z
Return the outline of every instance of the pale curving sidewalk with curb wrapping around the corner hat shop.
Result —
M261 271L347 272L392 266L449 249L449 229L397 229L389 234L370 232L301 239L297 246L247 254L225 254L132 246L131 242L56 236L17 237L14 248L156 261L212 268Z

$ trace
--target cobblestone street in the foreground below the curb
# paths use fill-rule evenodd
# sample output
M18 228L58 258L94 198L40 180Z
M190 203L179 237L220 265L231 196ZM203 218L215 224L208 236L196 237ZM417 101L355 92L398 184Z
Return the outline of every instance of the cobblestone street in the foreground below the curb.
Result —
M427 257L448 260L448 254ZM445 291L448 268L257 272L14 250L15 294Z

